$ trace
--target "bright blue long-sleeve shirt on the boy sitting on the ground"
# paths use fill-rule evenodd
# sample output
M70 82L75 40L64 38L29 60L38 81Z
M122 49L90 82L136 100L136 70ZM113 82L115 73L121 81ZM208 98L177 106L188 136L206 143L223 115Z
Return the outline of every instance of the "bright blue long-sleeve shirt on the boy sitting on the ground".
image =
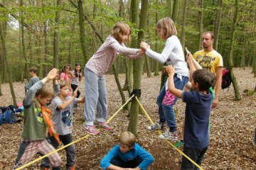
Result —
M102 169L107 169L108 166L110 166L110 162L114 157L118 157L119 159L122 159L124 162L129 162L137 157L142 159L142 163L139 164L140 169L147 169L152 162L154 162L154 157L152 157L149 152L146 152L145 149L143 149L139 144L135 143L134 148L129 150L128 152L122 153L120 151L119 145L115 145L112 149L110 149L110 152L107 153L105 157L102 158L100 162L100 166Z

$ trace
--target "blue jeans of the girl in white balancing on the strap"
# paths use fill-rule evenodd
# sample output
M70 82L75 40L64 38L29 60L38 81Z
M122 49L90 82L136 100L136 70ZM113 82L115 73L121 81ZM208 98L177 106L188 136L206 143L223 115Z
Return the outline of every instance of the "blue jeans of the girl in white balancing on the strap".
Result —
M159 106L159 121L167 124L170 132L176 131L176 120L174 113L174 104L178 97L166 91L166 83L162 87L159 96L157 97L156 104ZM183 90L184 86L188 83L188 77L182 77L179 79L177 74L174 74L174 86L176 89Z

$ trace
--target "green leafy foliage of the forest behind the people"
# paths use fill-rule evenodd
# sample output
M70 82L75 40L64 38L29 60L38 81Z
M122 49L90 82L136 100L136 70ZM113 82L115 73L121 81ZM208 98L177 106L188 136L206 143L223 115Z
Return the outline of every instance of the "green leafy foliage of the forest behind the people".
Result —
M74 1L78 4L77 1ZM69 1L64 1L63 6L56 7L55 3L50 0L28 1L23 0L24 5L21 7L19 1L4 1L5 7L0 7L0 23L7 21L9 24L6 30L6 47L9 58L8 63L11 72L17 74L13 76L15 80L21 79L21 74L17 72L18 67L24 67L25 64L35 66L53 65L53 32L55 31L55 13L60 11L59 25L59 66L70 61L71 64L80 62L82 67L85 65L82 57L80 45L80 33L78 26L78 10ZM103 40L110 35L112 27L117 21L125 21L132 28L132 36L136 37L139 29L130 23L130 1L124 1L124 17L119 17L119 0L112 1L83 1L84 12L90 22L97 28L98 33ZM222 21L220 25L218 52L225 54L230 50L230 33L232 26L233 13L235 11L234 0L223 0ZM186 18L186 41L185 45L191 52L198 50L198 11L203 11L203 30L214 32L216 11L218 10L217 1L204 1L204 8L198 8L198 1L188 1L187 18ZM256 5L255 0L240 1L239 4L238 24L235 33L233 45L234 56L237 64L240 64L240 58L245 55L248 60L250 55L255 55L251 50L252 45L256 43ZM22 50L19 49L21 43L21 31L17 23L21 21L21 12L23 13L25 27L26 55L28 60L23 60ZM166 1L149 1L148 25L144 29L144 41L149 42L151 46L159 44L159 50L164 47L164 41L156 35L156 12L159 18L166 17L168 6ZM178 18L176 18L176 28L178 37L181 35L183 3L179 3ZM13 18L11 15L16 16ZM48 55L45 55L44 33L43 28L47 23L47 40ZM245 43L246 42L246 43ZM85 21L85 44L86 55L91 57L95 50L102 44L100 40L92 33L91 26ZM245 45L247 44L247 45ZM129 46L129 42L127 42ZM45 58L46 57L46 58ZM45 62L47 59L47 63ZM252 62L252 60L251 60ZM224 61L225 63L225 61ZM250 64L252 65L252 64Z

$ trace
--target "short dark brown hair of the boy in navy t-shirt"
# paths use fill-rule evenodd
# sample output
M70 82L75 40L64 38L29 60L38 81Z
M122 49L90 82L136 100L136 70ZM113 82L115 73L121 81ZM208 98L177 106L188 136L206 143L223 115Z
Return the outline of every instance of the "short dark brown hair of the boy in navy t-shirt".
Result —
M206 91L211 86L214 87L216 84L215 75L207 69L197 69L192 74L194 83L198 83L200 91Z

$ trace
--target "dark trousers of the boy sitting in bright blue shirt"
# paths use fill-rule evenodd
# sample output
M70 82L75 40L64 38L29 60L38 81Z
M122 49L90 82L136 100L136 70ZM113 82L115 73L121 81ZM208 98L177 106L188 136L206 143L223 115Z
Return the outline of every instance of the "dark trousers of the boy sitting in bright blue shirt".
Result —
M119 159L119 157L114 157L110 162L110 164L122 168L136 168L140 163L142 163L142 159L140 157L137 157L136 159L129 162L124 162L122 159Z

